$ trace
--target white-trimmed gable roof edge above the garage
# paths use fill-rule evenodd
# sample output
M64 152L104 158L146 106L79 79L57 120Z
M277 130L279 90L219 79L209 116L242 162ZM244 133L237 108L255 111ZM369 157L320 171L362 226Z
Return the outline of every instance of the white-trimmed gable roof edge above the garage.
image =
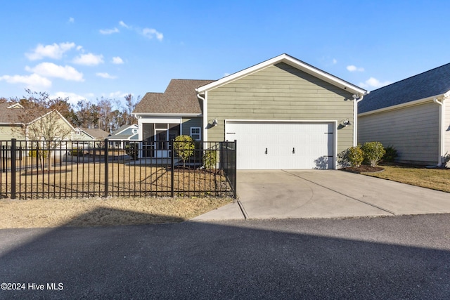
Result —
M317 77L317 78L319 78L323 81L326 81L330 84L333 84L334 86L337 86L340 89L343 89L345 91L349 91L351 93L359 94L359 95L366 95L366 93L367 93L367 91L365 89L361 89L359 86L350 84L348 81L345 81L338 77L335 77L332 74L329 74L323 70L313 67L312 65L309 65L307 63L304 63L302 60L298 60L297 58L294 58L293 56L289 56L288 54L285 54L285 53L281 54L281 56L276 56L275 58L271 58L262 63L254 65L252 67L248 67L247 69L236 72L227 77L223 77L217 81L213 81L209 84L205 84L204 86L200 86L197 89L197 91L198 91L198 93L204 93L205 91L210 91L212 89L216 89L219 86L228 84L231 81L240 79L249 74L258 72L259 70L265 69L266 67L270 67L271 65L276 65L278 63L286 63L292 67L297 68L298 70L302 70L303 72L311 74L312 76Z

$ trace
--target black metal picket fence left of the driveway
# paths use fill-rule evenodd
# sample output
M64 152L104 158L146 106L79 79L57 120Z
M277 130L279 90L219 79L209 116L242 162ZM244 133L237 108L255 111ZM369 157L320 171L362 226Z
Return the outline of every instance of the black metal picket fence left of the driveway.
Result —
M3 198L236 197L236 142L13 139L0 155Z

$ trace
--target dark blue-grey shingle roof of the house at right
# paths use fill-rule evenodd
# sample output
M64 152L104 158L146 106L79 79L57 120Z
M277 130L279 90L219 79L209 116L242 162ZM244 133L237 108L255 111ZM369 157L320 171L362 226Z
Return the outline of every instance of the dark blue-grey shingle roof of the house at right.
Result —
M450 63L371 91L359 103L359 113L380 110L450 91Z

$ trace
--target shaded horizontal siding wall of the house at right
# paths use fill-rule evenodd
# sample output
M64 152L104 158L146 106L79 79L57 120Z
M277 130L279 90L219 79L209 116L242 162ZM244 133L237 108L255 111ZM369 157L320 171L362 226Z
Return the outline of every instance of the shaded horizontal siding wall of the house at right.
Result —
M439 106L425 103L358 119L358 141L378 141L397 149L399 162L437 164Z

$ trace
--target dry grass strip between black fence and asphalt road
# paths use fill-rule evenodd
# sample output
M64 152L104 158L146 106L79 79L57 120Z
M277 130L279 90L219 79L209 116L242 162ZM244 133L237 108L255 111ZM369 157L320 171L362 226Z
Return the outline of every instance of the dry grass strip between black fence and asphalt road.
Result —
M230 198L98 198L0 200L0 228L116 226L181 222Z

